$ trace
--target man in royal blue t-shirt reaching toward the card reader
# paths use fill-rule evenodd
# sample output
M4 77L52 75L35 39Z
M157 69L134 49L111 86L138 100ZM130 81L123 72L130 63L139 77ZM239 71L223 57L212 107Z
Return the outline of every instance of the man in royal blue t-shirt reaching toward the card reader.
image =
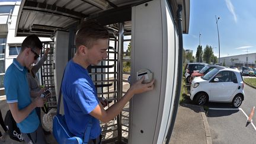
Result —
M107 105L99 101L97 92L89 76L89 65L97 65L107 58L108 31L102 25L89 21L81 24L76 32L76 54L65 68L62 82L63 104L68 129L75 136L83 137L89 120L92 120L89 143L101 142L100 121L113 120L124 105L135 94L153 89L153 81L142 84L137 81L117 103L104 110ZM100 121L99 121L100 120Z

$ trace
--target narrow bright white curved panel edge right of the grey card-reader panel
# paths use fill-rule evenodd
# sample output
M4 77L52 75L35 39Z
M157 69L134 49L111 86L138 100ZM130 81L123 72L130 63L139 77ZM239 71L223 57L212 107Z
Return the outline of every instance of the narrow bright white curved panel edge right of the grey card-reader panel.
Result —
M161 1L162 4L162 25L163 25L163 67L162 67L162 87L161 91L165 96L159 105L158 113L158 131L155 132L155 139L153 143L164 143L167 136L169 124L172 120L172 112L174 110L174 98L177 87L177 72L178 72L178 35L175 29L174 18L168 8L165 0ZM160 122L161 121L161 122ZM157 140L157 141L156 141Z

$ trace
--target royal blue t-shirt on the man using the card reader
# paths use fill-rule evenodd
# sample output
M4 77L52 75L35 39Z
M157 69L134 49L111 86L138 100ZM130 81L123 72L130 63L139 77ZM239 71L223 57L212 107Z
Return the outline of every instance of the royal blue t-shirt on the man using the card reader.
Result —
M75 136L84 137L92 119L90 139L100 136L100 121L89 113L98 105L97 92L87 69L69 60L62 81L62 94L66 124Z

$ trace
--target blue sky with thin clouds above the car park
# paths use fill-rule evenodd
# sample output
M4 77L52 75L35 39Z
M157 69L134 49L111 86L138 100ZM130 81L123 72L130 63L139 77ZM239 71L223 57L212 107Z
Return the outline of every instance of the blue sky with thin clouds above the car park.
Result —
M183 34L184 49L193 50L206 44L219 57L216 17L220 37L220 57L256 53L256 1L255 0L191 0L190 27Z

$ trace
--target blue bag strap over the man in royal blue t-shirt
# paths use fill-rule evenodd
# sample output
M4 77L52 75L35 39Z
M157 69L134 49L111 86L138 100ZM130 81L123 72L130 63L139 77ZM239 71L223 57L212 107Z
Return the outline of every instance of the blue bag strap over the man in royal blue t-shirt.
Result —
M63 78L64 78L65 71L66 71L66 68L64 69L64 72L63 72L63 75L62 75L62 81L63 81ZM57 114L59 114L59 111L60 111L61 96L62 96L62 82L60 83L59 98L58 98L58 101L57 101ZM83 143L88 143L89 142L89 135L91 133L91 127L92 127L92 117L89 116L89 123L88 123L88 126L87 126L87 128L85 129L85 132L84 132Z

